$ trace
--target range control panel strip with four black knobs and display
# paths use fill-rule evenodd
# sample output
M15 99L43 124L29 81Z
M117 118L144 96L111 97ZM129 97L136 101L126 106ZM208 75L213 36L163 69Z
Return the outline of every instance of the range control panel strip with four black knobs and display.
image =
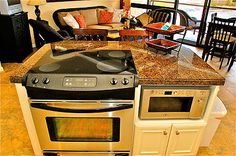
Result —
M53 90L112 90L132 88L138 85L135 75L65 75L65 74L28 74L26 86Z

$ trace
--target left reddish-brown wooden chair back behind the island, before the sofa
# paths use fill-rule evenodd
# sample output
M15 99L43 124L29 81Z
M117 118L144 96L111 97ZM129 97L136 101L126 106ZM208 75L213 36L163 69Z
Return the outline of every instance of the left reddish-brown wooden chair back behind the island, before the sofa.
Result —
M97 40L106 41L108 30L106 29L74 29L73 33L76 40Z

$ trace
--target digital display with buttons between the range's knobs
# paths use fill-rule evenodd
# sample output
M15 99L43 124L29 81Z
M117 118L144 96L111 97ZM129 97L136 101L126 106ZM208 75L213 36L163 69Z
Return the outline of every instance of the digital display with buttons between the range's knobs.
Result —
M65 87L95 87L97 79L95 77L65 77L63 86Z

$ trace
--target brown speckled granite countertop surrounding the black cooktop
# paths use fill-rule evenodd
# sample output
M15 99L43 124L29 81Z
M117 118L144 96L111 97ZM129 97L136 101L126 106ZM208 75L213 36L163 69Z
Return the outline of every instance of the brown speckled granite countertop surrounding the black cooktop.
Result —
M51 45L67 49L112 49L131 50L141 85L224 85L225 79L199 56L186 47L179 55L163 55L145 44L118 41L61 41L46 44L27 59L10 77L12 83L21 83L25 73L47 52Z

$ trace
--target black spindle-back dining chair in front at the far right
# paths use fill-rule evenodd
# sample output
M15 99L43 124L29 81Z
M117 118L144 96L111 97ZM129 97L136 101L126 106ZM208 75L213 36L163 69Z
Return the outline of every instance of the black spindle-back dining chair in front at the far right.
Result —
M235 33L235 30L236 27L233 25L210 22L202 58L204 59L206 55L205 61L207 61L210 55L211 59L213 56L220 57L219 69L222 67L224 58L228 58L228 65L229 60L232 57L232 44L235 40L232 35Z

